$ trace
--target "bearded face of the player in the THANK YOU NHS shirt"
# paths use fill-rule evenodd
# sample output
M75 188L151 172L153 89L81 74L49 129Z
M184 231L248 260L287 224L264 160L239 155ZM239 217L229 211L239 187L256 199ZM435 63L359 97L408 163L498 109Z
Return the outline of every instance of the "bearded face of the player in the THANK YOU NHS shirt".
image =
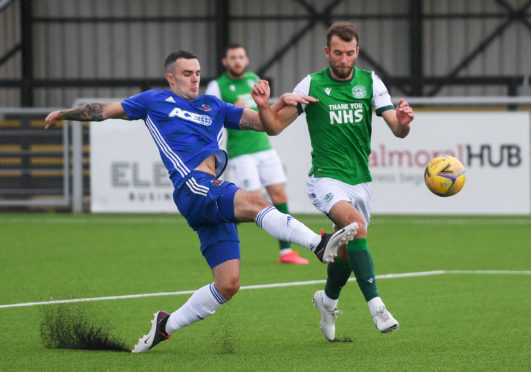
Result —
M337 80L348 80L352 77L352 69L358 58L359 47L356 38L343 41L334 35L330 39L330 47L325 47L326 58L330 60L332 77Z

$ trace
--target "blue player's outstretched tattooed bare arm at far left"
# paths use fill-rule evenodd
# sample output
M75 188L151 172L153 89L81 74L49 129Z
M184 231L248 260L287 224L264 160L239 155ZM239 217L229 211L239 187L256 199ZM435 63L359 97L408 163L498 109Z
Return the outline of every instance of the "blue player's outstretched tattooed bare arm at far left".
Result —
M83 106L50 113L44 129L55 127L61 120L102 121L105 119L129 119L121 102L87 103Z

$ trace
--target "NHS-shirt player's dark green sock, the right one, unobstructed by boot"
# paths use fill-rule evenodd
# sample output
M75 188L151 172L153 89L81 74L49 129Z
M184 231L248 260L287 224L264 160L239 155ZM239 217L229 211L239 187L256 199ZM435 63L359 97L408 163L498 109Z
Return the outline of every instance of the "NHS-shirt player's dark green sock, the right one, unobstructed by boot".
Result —
M374 263L367 247L367 239L354 239L347 245L347 257L350 268L356 276L358 286L366 301L378 297Z

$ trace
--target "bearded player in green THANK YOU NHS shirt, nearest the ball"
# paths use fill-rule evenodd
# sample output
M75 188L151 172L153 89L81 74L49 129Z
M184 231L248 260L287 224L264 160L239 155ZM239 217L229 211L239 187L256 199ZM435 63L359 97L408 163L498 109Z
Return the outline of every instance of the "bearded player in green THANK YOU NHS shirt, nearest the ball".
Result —
M312 168L307 193L317 209L325 213L336 228L359 224L353 241L339 250L328 264L324 290L315 292L313 302L321 315L321 331L327 340L335 339L337 303L342 287L354 272L374 325L382 333L398 329L398 321L384 305L376 287L374 264L367 245L371 211L371 120L383 117L396 137L409 133L413 109L400 100L396 109L383 82L372 71L355 67L359 54L357 28L349 22L336 22L327 31L324 48L330 65L306 76L272 107L270 89L261 80L253 88L258 112L269 135L277 135L299 114L306 112L312 145ZM307 105L290 101L290 94L305 94L319 99ZM284 104L282 104L284 103Z

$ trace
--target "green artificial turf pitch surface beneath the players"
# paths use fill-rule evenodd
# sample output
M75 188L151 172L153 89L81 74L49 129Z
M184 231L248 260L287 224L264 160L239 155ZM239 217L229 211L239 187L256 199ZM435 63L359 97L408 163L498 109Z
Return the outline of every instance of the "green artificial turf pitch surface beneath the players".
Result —
M312 229L321 216L298 216ZM326 265L276 263L276 241L239 225L241 285L324 280ZM212 280L198 240L174 215L0 214L0 306L187 291ZM311 303L322 284L243 289L212 317L145 354L45 348L43 314L89 314L133 346L152 312L189 295L0 307L0 370L527 371L531 369L531 217L374 216L369 248L400 329L381 335L355 282L343 290L336 336ZM520 271L481 273L478 270ZM470 272L468 272L470 271ZM522 271L527 271L523 273Z

